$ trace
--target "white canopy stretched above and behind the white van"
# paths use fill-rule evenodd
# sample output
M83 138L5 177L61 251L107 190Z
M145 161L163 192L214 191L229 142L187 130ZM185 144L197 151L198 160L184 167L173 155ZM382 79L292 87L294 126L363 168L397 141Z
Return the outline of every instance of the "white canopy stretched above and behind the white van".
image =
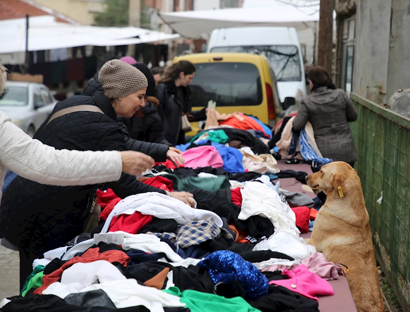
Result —
M205 38L214 29L248 26L314 28L319 6L297 8L275 2L268 7L159 13L174 31L187 38Z

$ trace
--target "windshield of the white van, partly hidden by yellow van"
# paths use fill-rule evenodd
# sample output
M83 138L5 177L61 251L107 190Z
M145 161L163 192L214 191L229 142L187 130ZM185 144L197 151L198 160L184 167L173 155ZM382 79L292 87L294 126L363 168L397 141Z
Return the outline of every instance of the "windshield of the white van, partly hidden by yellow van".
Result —
M274 69L277 81L301 81L300 59L296 46L215 47L211 52L236 52L264 55Z

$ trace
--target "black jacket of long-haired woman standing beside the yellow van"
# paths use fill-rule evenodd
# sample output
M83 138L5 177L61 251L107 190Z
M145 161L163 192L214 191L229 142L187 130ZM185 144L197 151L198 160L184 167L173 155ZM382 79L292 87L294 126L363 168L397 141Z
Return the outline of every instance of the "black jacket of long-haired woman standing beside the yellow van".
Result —
M168 129L166 139L173 145L185 143L185 134L182 131L182 113L190 114L189 121L205 120L205 109L192 112L191 91L189 87L180 87L184 101L178 98L178 88L175 82L161 82L157 86L160 109L164 114L166 128Z

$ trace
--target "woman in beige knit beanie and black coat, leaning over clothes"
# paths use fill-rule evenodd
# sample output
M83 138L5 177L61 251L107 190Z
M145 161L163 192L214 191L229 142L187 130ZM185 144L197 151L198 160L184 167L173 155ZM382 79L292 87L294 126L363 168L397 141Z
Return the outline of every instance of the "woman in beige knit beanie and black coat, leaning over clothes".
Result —
M144 106L147 78L135 67L115 59L103 66L99 79L104 93L77 95L58 102L34 138L56 149L126 150L124 134L116 119L118 115L131 117ZM57 112L60 116L55 117ZM45 252L64 246L83 232L85 218L99 188L112 189L121 198L158 192L193 205L190 193L168 193L126 174L104 186L97 182L85 186L52 186L17 176L2 198L0 232L19 248L23 281L32 272L34 259L43 258Z

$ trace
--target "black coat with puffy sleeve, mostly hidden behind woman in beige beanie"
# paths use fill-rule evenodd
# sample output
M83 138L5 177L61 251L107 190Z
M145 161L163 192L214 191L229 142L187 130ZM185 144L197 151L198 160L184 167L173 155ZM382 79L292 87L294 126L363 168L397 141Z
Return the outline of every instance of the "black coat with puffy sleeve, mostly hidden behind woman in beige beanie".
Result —
M88 80L82 95L92 96L99 92L104 92L103 85L98 80L98 73L93 78ZM127 150L137 151L151 156L155 161L162 162L167 160L167 152L169 150L168 144L162 142L144 142L143 140L136 140L131 137L132 118L119 117L119 124L125 135L125 144ZM157 121L155 121L157 122ZM162 124L162 122L161 122Z

